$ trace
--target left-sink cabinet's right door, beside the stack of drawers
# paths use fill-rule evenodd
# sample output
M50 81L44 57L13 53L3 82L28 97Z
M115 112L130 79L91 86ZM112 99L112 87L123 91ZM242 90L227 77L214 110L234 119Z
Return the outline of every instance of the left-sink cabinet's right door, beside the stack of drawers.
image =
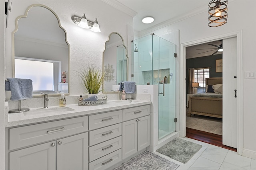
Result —
M57 170L88 170L88 132L59 139Z

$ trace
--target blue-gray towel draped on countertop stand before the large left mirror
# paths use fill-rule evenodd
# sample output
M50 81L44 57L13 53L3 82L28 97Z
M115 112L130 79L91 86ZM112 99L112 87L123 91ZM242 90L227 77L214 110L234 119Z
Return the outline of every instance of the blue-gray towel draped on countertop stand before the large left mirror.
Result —
M31 99L33 96L32 80L21 78L7 78L5 90L11 91L10 100Z

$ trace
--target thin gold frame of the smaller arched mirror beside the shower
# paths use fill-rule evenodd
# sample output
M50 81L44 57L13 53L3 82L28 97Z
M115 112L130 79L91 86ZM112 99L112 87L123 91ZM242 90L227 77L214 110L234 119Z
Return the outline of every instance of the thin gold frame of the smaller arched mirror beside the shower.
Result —
M127 59L127 63L126 63L126 81L128 81L129 58L128 58L128 53L127 53L127 47L124 45L124 39L123 39L122 35L120 35L120 33L118 33L118 32L112 32L112 33L110 33L110 35L108 36L108 41L106 41L106 42L104 43L104 51L103 51L103 53L102 53L102 72L104 72L104 52L105 52L105 50L106 50L106 43L108 43L108 42L110 41L110 37L111 37L111 35L113 35L113 34L119 35L119 37L120 37L121 40L122 40L122 45L124 46L124 48L125 48L125 50L126 50L126 53L125 53L126 59ZM104 73L106 74L106 72L104 72ZM104 81L104 82L105 82L105 81ZM102 84L102 89L103 89L103 90L102 90L102 93L103 93L103 94L118 93L118 92L116 92L116 91L106 92L106 91L104 90L104 83Z

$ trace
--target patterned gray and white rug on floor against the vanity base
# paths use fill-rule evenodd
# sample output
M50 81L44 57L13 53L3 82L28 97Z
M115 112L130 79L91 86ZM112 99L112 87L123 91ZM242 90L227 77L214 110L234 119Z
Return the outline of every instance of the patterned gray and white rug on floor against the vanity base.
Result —
M145 151L114 170L176 170L180 165Z

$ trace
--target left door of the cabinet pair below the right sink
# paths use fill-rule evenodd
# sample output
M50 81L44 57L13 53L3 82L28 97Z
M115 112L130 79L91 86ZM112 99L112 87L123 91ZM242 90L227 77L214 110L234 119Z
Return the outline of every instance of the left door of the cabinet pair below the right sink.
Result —
M122 159L137 152L137 119L123 122Z

